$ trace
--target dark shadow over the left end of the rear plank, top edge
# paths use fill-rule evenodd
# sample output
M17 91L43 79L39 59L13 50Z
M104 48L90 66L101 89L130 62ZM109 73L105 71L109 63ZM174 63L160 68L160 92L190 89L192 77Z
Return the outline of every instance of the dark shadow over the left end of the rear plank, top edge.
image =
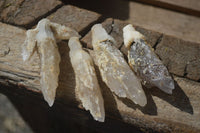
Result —
M72 4L102 14L105 18L112 17L121 20L129 18L129 2L124 0L62 0L65 4ZM89 3L89 4L88 4Z

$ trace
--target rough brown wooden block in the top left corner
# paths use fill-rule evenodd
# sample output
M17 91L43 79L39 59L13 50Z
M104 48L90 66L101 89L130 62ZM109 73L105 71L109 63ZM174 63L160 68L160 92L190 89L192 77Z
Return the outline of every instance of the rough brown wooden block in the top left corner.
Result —
M3 0L0 3L0 21L30 28L61 6L59 0Z

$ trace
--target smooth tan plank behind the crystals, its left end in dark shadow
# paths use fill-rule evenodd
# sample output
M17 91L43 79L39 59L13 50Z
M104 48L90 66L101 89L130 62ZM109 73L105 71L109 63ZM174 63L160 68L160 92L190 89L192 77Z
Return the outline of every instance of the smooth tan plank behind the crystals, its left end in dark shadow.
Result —
M65 2L68 4L68 0ZM126 20L149 30L200 43L200 19L196 16L132 0L70 0L69 3L98 12L103 17Z

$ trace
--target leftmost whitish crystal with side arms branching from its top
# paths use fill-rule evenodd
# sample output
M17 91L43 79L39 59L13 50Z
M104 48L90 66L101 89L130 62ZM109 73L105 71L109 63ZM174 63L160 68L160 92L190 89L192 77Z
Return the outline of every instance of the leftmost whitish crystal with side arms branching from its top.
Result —
M28 60L34 51L38 50L41 59L41 91L49 106L52 106L60 72L60 54L56 41L79 35L71 28L42 19L35 29L26 32L26 36L22 45L23 60Z

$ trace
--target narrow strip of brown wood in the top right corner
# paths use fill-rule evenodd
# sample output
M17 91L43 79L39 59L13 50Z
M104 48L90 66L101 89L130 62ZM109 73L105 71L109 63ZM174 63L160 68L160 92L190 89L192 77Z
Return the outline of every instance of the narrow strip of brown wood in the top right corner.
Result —
M200 17L199 0L135 0L135 1Z

